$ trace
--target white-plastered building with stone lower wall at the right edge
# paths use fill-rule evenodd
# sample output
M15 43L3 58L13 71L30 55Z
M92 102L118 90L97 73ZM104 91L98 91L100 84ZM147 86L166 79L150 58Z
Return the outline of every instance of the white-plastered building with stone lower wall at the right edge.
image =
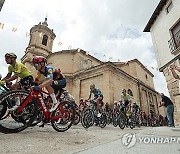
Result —
M180 66L180 1L160 0L144 32L150 32L159 70L163 72L170 98L175 106L175 122L180 124L180 81L169 66Z

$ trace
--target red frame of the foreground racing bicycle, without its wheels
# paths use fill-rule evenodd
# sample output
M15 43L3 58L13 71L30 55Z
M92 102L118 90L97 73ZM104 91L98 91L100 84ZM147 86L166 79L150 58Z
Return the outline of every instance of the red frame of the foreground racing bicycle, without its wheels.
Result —
M57 116L51 117L51 113L46 108L46 105L45 105L45 103L43 101L43 98L41 96L42 93L44 93L46 95L49 95L47 92L42 91L42 90L40 90L40 91L31 91L30 94L25 99L25 101L17 109L17 113L20 113L33 98L36 98L38 100L40 106L41 106L41 109L43 111L43 115L45 116L46 120L58 120L60 118L67 118L68 117L69 113L66 110L64 110L64 108L63 108L63 106L61 104L58 106L58 108L61 111L62 115L57 115Z

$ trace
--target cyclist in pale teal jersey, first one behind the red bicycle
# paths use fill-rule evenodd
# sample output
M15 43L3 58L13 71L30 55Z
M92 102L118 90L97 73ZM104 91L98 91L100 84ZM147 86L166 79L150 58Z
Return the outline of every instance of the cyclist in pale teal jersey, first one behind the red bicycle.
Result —
M97 103L96 111L97 111L97 116L100 117L101 114L99 113L100 107L103 104L103 94L102 92L95 87L95 84L90 85L90 95L89 99L91 98L91 95L94 94L94 100Z

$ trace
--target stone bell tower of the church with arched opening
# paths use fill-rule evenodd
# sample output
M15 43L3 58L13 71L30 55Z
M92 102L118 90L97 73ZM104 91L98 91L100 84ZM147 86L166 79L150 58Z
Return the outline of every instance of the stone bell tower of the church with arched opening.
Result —
M44 22L33 26L30 29L30 40L24 56L21 58L22 63L33 70L32 59L34 56L47 57L52 53L53 41L56 35L53 29L48 27L47 17ZM34 71L32 71L34 72Z

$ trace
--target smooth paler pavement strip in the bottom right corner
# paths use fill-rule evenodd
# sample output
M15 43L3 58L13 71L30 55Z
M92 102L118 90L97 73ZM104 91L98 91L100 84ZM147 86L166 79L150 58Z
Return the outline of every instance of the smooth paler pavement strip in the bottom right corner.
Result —
M119 153L126 153L126 154L179 154L180 153L180 127L177 126L175 128L172 127L147 127L144 128L139 133L135 133L136 135L136 142L133 144L132 147L127 147L123 145L123 136L119 139L111 141L109 143L97 145L93 148L86 149L83 151L79 151L78 154L119 154ZM132 130L133 134L133 130ZM124 134L125 135L125 134ZM143 142L141 143L139 138L144 138ZM169 139L176 138L178 142L166 142L166 143L147 143L148 139L150 138L163 138ZM132 140L130 142L132 143ZM165 140L164 140L165 141ZM131 144L130 143L130 144Z

